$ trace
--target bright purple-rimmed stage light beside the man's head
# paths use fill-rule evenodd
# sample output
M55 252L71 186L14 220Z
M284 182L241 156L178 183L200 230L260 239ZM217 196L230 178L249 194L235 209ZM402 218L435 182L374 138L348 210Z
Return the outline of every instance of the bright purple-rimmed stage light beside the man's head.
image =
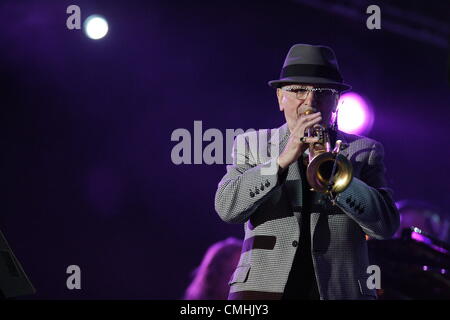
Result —
M357 93L344 93L338 103L339 130L352 134L368 133L374 115L369 104Z

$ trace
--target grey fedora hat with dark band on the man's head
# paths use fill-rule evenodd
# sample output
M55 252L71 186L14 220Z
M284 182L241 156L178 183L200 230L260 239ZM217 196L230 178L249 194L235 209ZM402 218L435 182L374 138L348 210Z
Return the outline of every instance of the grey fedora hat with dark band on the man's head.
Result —
M284 60L280 79L269 81L273 88L291 83L320 84L339 91L351 89L343 82L333 50L310 44L293 45Z

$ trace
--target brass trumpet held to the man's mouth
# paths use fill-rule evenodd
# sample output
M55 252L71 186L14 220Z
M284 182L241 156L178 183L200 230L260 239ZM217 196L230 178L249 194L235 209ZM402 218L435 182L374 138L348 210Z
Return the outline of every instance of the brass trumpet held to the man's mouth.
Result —
M305 114L312 113L308 110ZM306 179L312 191L328 194L334 200L336 194L344 191L353 179L351 162L339 152L345 147L337 140L333 150L328 128L316 124L306 132L308 137L318 137L319 141L309 144Z

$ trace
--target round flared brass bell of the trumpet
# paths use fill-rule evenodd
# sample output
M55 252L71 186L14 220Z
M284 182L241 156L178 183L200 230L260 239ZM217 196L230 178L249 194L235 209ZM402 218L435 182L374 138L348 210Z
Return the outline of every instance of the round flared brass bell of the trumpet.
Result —
M333 184L328 187L336 157L336 169ZM323 152L318 154L308 164L306 178L309 185L317 192L339 193L347 189L353 179L353 166L351 162L341 154Z

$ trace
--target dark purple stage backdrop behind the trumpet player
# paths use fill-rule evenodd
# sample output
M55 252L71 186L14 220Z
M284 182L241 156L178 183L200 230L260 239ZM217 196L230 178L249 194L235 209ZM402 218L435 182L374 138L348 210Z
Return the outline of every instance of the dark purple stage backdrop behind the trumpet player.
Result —
M70 4L109 34L68 30ZM225 165L173 164L171 134L283 124L267 81L295 43L332 47L373 105L395 199L448 213L447 49L291 1L2 1L0 229L29 298L181 298L206 248L243 230L214 211Z

